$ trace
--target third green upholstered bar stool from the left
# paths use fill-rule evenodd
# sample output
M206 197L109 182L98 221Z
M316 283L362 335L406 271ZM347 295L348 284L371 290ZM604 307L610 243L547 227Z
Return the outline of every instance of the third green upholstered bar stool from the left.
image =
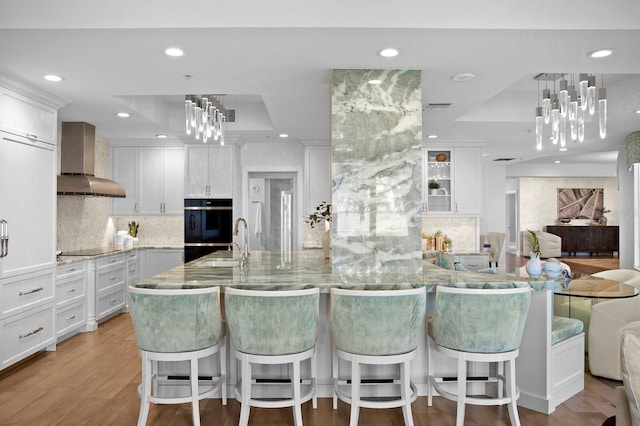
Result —
M338 398L351 404L352 426L358 424L360 407L402 407L405 424L413 425L411 402L415 401L417 392L411 383L409 367L418 347L426 295L425 287L408 290L331 289L333 408L337 409ZM351 363L350 385L340 377L340 360ZM366 378L361 374L362 364L399 365L399 380L397 376L393 379L399 384L400 396L384 400L363 396L362 381Z

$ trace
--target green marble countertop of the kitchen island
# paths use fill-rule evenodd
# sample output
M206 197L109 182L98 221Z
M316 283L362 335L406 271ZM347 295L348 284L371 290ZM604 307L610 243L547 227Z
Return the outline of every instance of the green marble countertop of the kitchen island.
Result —
M239 257L236 255L239 260ZM288 255L279 252L253 252L249 268L241 269L238 264L232 266L211 266L216 261L224 264L230 260L228 252L216 252L177 266L136 284L145 288L193 288L227 286L259 288L261 290L300 289L319 287L328 291L331 287L358 289L397 289L426 285L432 290L436 285L493 285L505 286L529 284L535 290L550 289L558 285L557 281L516 277L508 275L489 275L477 272L459 272L439 268L430 262L423 263L422 274L336 274L331 262L325 259L321 250L307 249L294 251ZM228 263L227 263L228 265Z

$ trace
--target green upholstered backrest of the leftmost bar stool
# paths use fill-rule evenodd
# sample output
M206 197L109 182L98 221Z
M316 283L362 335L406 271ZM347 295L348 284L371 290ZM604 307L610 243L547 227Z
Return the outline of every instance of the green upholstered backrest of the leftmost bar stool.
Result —
M129 311L138 347L149 352L189 352L216 345L225 334L220 287L129 287Z

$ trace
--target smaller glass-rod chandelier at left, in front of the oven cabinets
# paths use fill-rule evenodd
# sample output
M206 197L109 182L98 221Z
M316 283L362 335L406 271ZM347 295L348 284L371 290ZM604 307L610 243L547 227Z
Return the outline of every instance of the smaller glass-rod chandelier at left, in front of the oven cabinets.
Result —
M185 124L188 136L207 143L209 139L224 145L225 109L222 95L186 95Z

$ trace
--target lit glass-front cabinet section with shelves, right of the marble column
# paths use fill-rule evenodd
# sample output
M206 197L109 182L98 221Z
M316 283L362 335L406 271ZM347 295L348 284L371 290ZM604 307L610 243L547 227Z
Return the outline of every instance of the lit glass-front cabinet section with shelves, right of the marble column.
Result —
M424 212L451 212L453 196L453 159L451 150L425 148Z

